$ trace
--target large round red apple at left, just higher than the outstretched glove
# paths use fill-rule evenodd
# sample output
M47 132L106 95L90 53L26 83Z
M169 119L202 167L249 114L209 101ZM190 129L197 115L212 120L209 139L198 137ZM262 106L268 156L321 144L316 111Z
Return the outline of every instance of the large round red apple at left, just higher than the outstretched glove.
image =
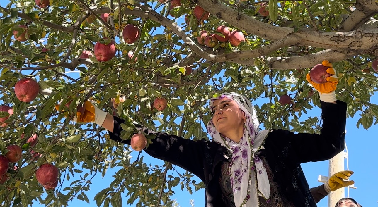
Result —
M39 84L31 78L22 78L15 84L14 93L22 102L33 101L39 93Z

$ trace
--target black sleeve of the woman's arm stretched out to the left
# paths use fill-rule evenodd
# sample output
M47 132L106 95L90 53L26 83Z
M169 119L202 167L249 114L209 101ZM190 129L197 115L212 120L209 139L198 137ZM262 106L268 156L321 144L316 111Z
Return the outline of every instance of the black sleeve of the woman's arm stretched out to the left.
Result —
M130 140L122 140L120 138L121 124L125 120L114 117L113 133L109 132L110 139L130 145ZM135 124L137 129L141 129L142 126ZM154 158L161 159L177 165L184 170L187 170L194 175L197 175L202 181L204 181L204 153L203 146L206 144L204 141L187 140L175 135L169 135L162 132L154 132L147 128L143 131L149 135L156 135L152 139L152 143L144 149L144 151L153 156Z

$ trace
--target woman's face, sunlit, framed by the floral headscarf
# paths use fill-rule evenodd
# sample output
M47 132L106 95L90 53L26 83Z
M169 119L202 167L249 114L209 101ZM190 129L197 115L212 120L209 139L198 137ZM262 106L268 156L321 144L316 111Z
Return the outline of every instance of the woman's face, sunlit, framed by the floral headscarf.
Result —
M234 100L228 98L215 100L212 107L212 121L215 129L223 135L244 126L244 112Z

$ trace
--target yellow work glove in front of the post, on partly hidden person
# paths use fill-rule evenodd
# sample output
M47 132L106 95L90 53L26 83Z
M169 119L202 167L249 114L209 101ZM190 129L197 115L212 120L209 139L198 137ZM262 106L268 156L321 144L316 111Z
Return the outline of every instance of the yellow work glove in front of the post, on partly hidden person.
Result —
M344 170L333 174L324 184L325 191L327 193L330 193L331 191L340 189L342 187L353 185L354 181L344 181L349 179L352 174L353 171L350 170Z

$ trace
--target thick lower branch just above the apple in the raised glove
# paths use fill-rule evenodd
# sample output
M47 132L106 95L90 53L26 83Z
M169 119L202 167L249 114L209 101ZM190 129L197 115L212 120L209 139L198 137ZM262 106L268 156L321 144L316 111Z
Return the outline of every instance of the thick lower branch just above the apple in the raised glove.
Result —
M269 57L267 58L271 69L297 69L311 68L316 64L321 64L323 60L331 63L345 60L349 57L358 55L356 52L344 54L333 50L324 50L310 55L293 56L293 57Z

